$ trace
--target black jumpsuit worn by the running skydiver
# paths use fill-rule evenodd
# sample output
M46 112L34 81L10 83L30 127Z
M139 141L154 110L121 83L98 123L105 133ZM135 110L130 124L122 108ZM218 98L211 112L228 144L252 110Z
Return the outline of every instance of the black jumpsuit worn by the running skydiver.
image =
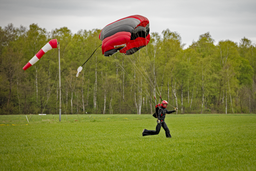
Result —
M175 110L168 111L166 108L161 106L157 113L157 119L160 120L161 122L159 124L157 124L156 130L146 130L145 129L142 133L142 136L157 135L157 134L159 134L161 127L163 127L163 129L166 132L166 138L172 138L172 136L170 134L170 130L167 127L164 119L165 119L166 113L170 114L173 112L175 112Z

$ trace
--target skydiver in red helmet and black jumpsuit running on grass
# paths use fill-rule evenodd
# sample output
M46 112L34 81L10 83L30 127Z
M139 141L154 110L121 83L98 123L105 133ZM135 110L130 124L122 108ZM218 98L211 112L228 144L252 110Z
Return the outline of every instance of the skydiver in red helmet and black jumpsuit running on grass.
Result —
M156 130L146 130L144 129L142 132L142 136L147 136L147 135L157 135L160 132L161 127L163 127L163 129L165 130L166 133L166 138L172 138L171 134L170 134L170 130L166 125L166 122L164 121L166 113L170 114L173 113L175 111L177 111L177 107L175 108L175 110L172 111L168 111L166 109L168 102L166 100L162 101L162 104L158 104L159 110L156 111L157 113L157 127Z

